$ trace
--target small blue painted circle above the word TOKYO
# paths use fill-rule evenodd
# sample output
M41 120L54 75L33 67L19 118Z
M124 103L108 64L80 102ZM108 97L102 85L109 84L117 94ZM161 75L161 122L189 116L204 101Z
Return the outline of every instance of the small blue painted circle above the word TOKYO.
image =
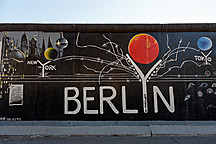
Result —
M197 46L203 51L207 51L212 47L212 41L208 37L201 37L197 41Z

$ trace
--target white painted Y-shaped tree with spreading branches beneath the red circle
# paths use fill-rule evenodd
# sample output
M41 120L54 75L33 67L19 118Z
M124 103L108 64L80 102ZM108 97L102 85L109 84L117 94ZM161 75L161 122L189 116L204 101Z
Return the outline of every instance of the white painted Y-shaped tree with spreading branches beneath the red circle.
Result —
M146 34L145 34L146 35ZM185 63L194 63L198 67L201 67L202 65L209 64L208 62L204 62L203 64L198 64L194 60L184 60L180 65L174 65L172 67L169 67L166 72L164 72L162 75L158 76L158 72L160 69L165 68L166 65L170 62L176 62L178 61L179 53L185 52L186 50L192 50L196 52L200 52L200 49L189 47L190 42L186 46L181 46L182 39L179 41L178 47L171 49L169 46L169 37L167 35L167 48L168 51L163 55L162 59L159 59L155 64L149 69L149 71L146 73L146 75L143 74L142 70L138 67L138 65L134 62L134 60L129 56L129 54L126 54L126 56L123 54L123 51L121 48L119 48L118 44L112 42L109 38L107 38L105 35L103 37L108 41L107 43L104 43L101 47L96 45L84 45L80 46L78 44L79 41L79 33L77 35L76 40L76 46L78 48L96 48L102 51L105 51L107 54L113 55L116 59L114 61L108 61L104 60L102 58L89 58L89 57L82 57L81 60L89 60L94 61L98 63L103 63L105 66L100 69L96 70L95 68L90 68L86 65L84 67L90 71L94 71L95 73L99 74L99 83L101 82L101 78L103 74L108 74L113 72L114 70L122 70L127 73L130 73L134 75L134 77L140 79L142 83L142 93L143 93L143 110L144 113L148 113L148 91L147 91L147 83L151 80L151 77L154 78L161 78L164 75L166 75L168 72L170 72L172 69L180 69ZM145 44L145 43L144 43ZM111 47L111 49L107 49L108 45ZM149 45L149 44L146 44ZM200 52L201 53L201 52ZM207 54L207 56L209 56ZM174 58L173 58L174 57ZM156 58L155 58L156 59ZM153 62L153 61L152 61Z

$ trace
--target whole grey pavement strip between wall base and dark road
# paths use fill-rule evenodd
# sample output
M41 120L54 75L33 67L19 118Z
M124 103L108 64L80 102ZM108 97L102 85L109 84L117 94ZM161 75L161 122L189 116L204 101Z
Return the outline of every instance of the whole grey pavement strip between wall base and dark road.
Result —
M1 122L0 136L209 136L216 123L205 122Z

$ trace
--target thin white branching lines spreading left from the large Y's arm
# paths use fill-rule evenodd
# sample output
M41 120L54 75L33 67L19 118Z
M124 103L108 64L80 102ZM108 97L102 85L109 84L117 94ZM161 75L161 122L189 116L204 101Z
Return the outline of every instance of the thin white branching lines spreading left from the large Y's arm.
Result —
M54 61L57 61L60 59L65 59L66 61L78 59L81 61L85 60L85 61L92 61L92 62L96 62L96 63L105 64L105 66L100 70L96 70L95 68L91 68L87 65L83 65L83 67L86 68L87 70L90 70L90 71L93 71L93 72L99 74L99 77L98 77L99 84L101 83L101 79L103 77L103 74L109 74L114 70L121 70L121 71L124 71L126 73L130 73L130 74L134 75L135 78L139 79L139 75L137 74L135 68L133 68L133 65L130 63L130 61L128 61L128 58L125 55L123 55L123 51L121 48L119 48L118 44L112 42L109 38L107 38L105 35L103 35L104 39L106 39L108 42L104 43L102 45L102 47L99 47L96 45L80 46L79 45L79 36L80 36L80 33L77 34L77 38L76 38L76 46L78 48L99 49L99 50L106 52L107 54L113 55L116 59L114 61L109 61L109 60L104 60L104 59L99 58L99 57L95 58L95 57L88 57L88 56L74 56L73 55L73 56L58 58L58 59L55 59ZM106 47L108 47L108 45L111 47L110 49L106 49ZM110 79L111 79L111 77L110 77Z

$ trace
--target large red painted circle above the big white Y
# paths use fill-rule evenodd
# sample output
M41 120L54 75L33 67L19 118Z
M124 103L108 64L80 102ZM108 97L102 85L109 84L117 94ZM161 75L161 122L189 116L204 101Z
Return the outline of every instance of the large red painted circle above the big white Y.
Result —
M148 34L135 35L129 42L129 54L138 63L149 64L159 54L157 40Z

